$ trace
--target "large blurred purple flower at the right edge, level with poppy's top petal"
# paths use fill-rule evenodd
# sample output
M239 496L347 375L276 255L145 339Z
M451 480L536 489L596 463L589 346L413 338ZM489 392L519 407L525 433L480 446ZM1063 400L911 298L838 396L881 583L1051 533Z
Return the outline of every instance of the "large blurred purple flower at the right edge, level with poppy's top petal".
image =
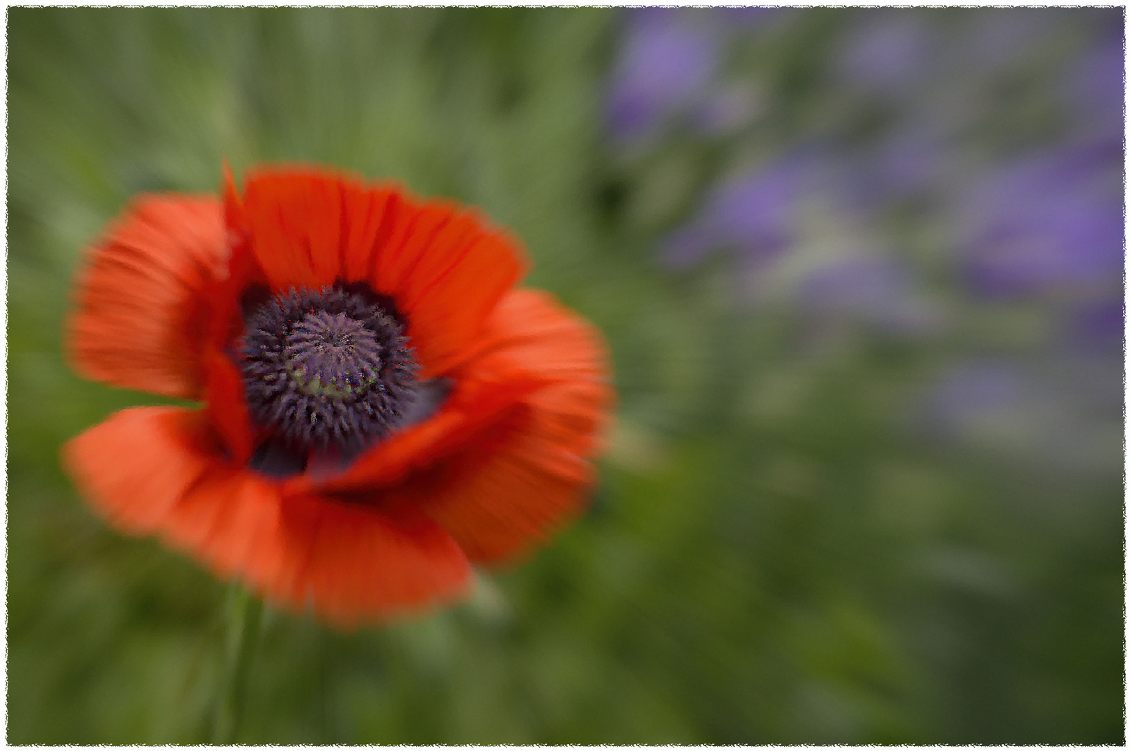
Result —
M965 194L964 271L985 296L1120 285L1121 165L1092 150L1005 165Z

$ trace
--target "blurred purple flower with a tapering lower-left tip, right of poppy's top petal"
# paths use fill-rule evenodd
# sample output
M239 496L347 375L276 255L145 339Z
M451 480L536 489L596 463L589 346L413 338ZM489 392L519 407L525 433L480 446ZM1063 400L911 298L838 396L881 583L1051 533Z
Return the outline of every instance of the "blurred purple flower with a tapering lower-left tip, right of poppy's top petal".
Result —
M819 174L814 154L797 152L723 183L698 217L667 239L663 261L686 268L721 247L747 257L775 255L796 239L798 208Z

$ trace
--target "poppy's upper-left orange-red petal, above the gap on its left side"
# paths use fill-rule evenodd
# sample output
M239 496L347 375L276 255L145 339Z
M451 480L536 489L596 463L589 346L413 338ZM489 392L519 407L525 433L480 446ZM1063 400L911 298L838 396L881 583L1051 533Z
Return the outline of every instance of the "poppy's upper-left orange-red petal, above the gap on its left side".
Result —
M67 332L75 368L115 386L198 398L202 292L225 255L217 199L137 199L88 251Z

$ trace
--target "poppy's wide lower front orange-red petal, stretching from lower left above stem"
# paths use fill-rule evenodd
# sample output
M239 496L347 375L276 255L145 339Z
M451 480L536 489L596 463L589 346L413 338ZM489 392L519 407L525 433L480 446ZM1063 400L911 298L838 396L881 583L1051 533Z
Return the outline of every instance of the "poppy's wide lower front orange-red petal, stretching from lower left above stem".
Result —
M459 545L411 508L280 486L220 460L203 412L119 412L71 440L63 461L115 527L156 533L224 578L341 626L383 620L460 594Z

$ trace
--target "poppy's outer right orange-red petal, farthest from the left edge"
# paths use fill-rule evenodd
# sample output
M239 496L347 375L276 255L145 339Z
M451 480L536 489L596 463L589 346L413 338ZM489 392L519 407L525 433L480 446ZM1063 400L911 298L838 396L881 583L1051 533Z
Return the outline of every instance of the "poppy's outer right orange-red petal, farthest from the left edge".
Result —
M443 462L423 507L470 560L497 562L581 509L612 392L599 334L548 295L511 292L488 332L483 357L510 358L550 383Z

